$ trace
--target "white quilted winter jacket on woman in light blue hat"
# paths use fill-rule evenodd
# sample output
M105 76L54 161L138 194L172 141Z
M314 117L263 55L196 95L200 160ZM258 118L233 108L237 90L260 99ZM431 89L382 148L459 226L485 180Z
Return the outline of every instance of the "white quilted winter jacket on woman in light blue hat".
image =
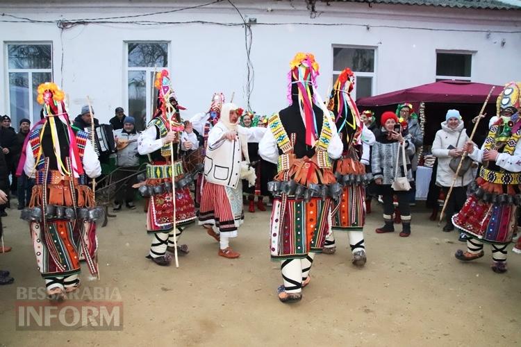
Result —
M461 137L458 136L461 134ZM449 162L452 159L449 156L449 146L463 149L465 142L468 140L468 135L463 128L463 121L460 121L457 128L451 129L447 126L447 121L441 124L441 129L436 133L434 142L432 144L432 154L438 157L438 172L436 173L436 185L440 187L450 187L452 180L454 180L454 171L449 167ZM457 143L456 143L457 142ZM454 187L464 187L472 182L474 178L472 169L465 172L463 177L458 177L454 183Z

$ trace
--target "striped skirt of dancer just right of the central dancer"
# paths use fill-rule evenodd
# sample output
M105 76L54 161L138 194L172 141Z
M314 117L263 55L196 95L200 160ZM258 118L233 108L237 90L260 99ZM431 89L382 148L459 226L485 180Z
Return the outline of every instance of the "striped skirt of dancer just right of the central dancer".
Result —
M362 231L365 224L365 186L347 185L333 210L333 230Z

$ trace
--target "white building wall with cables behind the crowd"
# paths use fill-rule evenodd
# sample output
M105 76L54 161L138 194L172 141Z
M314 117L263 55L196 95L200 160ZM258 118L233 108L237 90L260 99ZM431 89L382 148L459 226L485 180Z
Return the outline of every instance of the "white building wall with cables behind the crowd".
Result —
M24 5L19 5L13 2L4 3L2 12L32 19L77 19L135 15L202 3L172 4L160 1L156 2L158 6L142 6L135 1L109 2L111 5L97 1L82 5L64 2L47 10L42 10L41 3L31 5L25 1ZM270 114L286 106L288 63L298 51L315 54L321 72L319 90L325 96L327 87L331 85L333 44L377 48L374 94L435 81L437 49L476 52L472 60L474 82L502 85L507 81L521 80L521 11L429 6L369 7L361 3L331 3L331 6L326 6L320 3L317 4L317 11L322 13L311 19L306 7L295 5L296 2L234 1L243 15L255 17L258 23L252 26L251 61L255 79L251 108L259 114ZM241 21L226 1L197 10L135 20ZM355 26L265 25L288 22L349 23ZM487 35L486 31L490 34ZM3 59L0 60L3 76L3 83L0 84L1 114L9 114L6 42L24 41L53 42L53 76L69 95L71 116L78 114L86 96L90 96L96 116L102 122L113 117L114 109L119 105L127 110L125 42L139 40L171 42L169 69L172 84L179 102L188 108L183 117L207 110L210 97L218 91L224 92L227 99L235 92L233 101L245 105L246 53L242 26L88 24L66 29L60 35L56 24L0 22L0 40L3 42ZM503 46L502 40L505 42Z

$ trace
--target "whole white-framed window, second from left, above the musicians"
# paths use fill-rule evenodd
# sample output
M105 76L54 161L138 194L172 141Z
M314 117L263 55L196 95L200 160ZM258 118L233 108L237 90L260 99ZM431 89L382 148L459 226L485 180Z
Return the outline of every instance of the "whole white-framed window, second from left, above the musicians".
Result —
M154 72L168 67L167 42L127 42L129 116L141 131L156 111Z

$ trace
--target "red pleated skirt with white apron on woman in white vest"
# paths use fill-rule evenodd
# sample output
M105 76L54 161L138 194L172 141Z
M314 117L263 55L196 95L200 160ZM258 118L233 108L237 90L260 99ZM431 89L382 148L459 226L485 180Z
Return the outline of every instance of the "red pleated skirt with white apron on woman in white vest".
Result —
M204 183L199 208L199 225L215 225L224 237L237 237L237 230L244 219L240 180L236 188L216 185L208 181Z

